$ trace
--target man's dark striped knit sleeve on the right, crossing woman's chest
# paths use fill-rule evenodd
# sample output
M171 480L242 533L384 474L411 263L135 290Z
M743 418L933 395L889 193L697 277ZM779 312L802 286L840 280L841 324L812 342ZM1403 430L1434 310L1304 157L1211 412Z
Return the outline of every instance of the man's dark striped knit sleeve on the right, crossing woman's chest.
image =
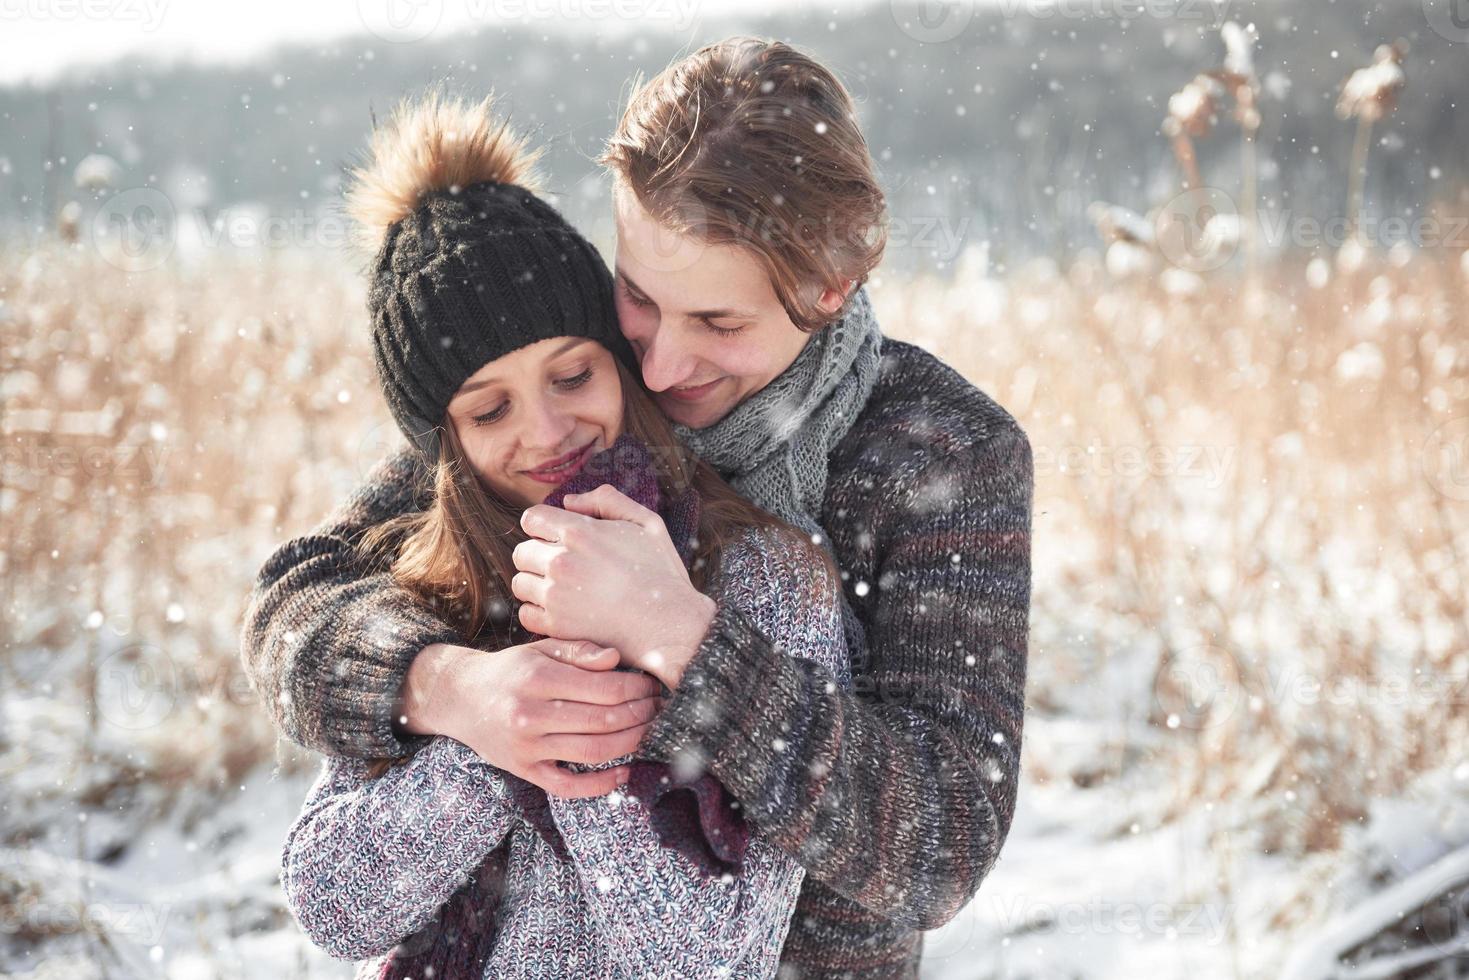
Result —
M912 929L978 889L1019 782L1030 442L1009 420L950 448L914 439L853 501L874 570L849 583L867 636L853 691L721 604L639 748L707 765L812 879Z

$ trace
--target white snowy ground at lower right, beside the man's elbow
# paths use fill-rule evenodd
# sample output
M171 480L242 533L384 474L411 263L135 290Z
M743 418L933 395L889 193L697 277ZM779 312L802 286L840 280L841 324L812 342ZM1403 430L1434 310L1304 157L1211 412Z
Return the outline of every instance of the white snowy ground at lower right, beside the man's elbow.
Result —
M1044 741L1047 729L1033 720L1027 738ZM1293 955L1387 884L1466 852L1469 764L1379 801L1341 851L1310 861L1253 851L1243 807L1200 808L1146 829L1138 821L1149 810L1144 792L1024 785L980 893L928 934L924 976L1279 977ZM1291 908L1304 918L1282 927L1277 915Z

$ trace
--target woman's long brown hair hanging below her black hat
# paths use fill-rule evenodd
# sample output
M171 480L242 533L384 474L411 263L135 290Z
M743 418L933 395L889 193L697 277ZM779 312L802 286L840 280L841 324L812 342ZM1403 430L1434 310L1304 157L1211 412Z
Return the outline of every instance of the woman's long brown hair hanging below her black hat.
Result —
M809 536L736 494L689 451L632 372L616 357L611 361L623 386L623 430L648 448L664 500L674 500L689 488L699 495L689 569L696 589L708 588L721 551L751 527L790 535L804 544L812 561L837 574L830 555ZM511 551L526 539L520 508L477 478L447 416L442 429L439 458L427 475L430 505L366 530L357 542L358 555L367 567L391 572L398 585L454 623L464 645L499 649L513 645L517 632L523 633L510 592L516 574ZM405 758L376 760L369 776L375 779Z

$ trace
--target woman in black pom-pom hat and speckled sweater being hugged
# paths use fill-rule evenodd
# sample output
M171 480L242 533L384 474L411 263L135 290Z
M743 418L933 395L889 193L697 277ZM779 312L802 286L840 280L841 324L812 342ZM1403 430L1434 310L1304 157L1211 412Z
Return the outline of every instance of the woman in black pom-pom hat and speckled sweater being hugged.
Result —
M692 627L627 633L623 666L677 686L671 664L715 605L707 588L845 677L834 570L680 451L627 367L611 273L533 184L488 101L439 97L403 106L358 172L350 203L376 234L379 373L432 473L425 510L357 542L364 566L494 658L530 639L505 614L520 511L616 488L645 532L624 573L695 613ZM648 582L636 564L657 557L689 570ZM613 676L621 693L657 692ZM639 732L611 751L630 752ZM710 777L630 774L626 793L563 799L448 736L395 760L332 758L285 843L288 904L333 955L373 958L358 976L773 977L801 867L746 837Z

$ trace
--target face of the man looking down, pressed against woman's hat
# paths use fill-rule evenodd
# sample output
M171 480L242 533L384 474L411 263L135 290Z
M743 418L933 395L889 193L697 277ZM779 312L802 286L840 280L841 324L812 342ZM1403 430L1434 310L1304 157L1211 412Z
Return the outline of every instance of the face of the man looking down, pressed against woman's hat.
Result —
M759 260L658 225L618 182L617 319L638 353L643 383L674 422L702 429L723 419L805 348ZM827 289L821 306L836 310Z

